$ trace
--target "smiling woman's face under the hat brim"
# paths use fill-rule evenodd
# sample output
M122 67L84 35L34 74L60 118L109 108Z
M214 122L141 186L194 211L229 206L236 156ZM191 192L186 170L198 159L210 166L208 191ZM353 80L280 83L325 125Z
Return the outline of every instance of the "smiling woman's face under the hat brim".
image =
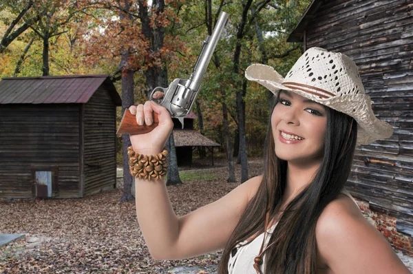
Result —
M323 105L282 90L271 116L275 154L299 165L321 162L326 125Z

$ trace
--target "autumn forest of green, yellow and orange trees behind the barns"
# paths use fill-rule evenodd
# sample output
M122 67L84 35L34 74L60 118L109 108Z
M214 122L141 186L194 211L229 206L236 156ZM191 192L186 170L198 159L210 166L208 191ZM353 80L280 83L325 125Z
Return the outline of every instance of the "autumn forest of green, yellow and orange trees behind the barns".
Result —
M264 63L285 75L302 54L288 34L310 0L0 0L0 76L109 74L123 99L118 123L154 87L188 78L221 11L229 13L193 112L195 128L220 143L228 182L248 179L248 156L261 156L271 92L248 83L244 70ZM171 134L172 136L172 134ZM129 136L118 136L127 167ZM168 185L180 183L174 146ZM205 156L205 151L199 151ZM233 162L242 167L235 178ZM131 200L124 173L122 200Z

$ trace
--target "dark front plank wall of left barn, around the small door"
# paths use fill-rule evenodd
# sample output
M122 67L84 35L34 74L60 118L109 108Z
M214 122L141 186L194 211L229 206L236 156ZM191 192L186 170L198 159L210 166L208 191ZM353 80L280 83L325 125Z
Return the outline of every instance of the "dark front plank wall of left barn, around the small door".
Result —
M53 196L78 196L79 107L0 105L0 197L32 197L32 167L58 170Z

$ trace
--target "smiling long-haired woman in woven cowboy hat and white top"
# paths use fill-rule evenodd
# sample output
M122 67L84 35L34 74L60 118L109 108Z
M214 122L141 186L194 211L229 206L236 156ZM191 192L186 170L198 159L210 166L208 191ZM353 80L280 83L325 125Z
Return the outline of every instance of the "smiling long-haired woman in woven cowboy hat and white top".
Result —
M153 259L224 249L219 273L410 273L344 189L356 144L392 135L354 62L310 48L285 79L259 64L246 78L276 96L264 175L181 217L162 178L138 176L136 213ZM158 127L131 143L137 154L159 154L173 127L167 110L149 101L129 110L138 125L158 114Z

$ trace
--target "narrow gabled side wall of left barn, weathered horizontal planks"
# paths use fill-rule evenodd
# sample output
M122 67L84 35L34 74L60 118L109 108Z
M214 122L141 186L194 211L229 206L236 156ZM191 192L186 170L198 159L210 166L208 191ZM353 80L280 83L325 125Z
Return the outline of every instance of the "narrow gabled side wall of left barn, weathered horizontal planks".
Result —
M116 185L116 106L102 86L83 106L85 195Z

